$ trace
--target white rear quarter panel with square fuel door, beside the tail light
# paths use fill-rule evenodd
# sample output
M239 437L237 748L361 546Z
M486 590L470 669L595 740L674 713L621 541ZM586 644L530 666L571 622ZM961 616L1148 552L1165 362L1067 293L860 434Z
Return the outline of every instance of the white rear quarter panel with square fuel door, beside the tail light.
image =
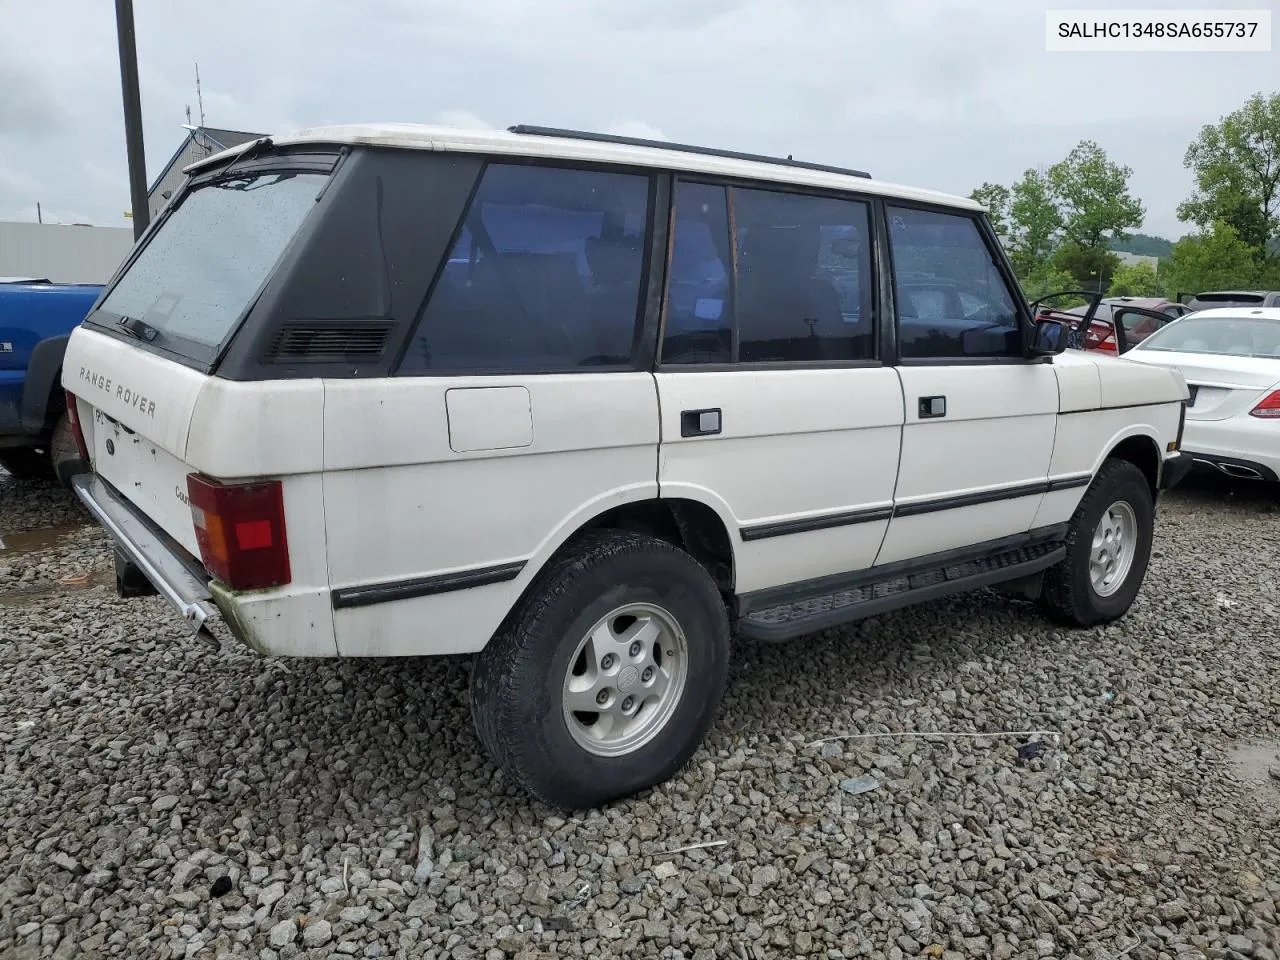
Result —
M460 436L470 449L454 449ZM497 448L475 449L484 438ZM335 591L524 564L499 582L335 609L348 657L481 649L573 530L658 495L644 372L330 380L324 447Z

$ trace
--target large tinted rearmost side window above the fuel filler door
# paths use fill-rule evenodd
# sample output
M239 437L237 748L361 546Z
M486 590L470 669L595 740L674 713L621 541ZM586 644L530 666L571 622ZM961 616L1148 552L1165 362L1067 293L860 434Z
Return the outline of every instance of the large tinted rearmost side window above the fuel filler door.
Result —
M486 166L399 372L630 365L649 188L635 174Z

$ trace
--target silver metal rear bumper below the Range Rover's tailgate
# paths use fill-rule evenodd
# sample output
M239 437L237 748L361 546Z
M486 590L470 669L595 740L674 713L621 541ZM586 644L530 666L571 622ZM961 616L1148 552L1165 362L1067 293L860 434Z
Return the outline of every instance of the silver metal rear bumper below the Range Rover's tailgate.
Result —
M209 575L96 474L74 476L70 486L119 550L182 614L191 631L207 634L205 625L220 618L209 590Z

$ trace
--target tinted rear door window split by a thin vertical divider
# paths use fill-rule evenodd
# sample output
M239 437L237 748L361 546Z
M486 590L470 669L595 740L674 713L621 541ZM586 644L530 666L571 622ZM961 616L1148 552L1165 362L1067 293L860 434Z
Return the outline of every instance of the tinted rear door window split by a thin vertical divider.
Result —
M870 264L861 201L681 182L662 362L873 358Z

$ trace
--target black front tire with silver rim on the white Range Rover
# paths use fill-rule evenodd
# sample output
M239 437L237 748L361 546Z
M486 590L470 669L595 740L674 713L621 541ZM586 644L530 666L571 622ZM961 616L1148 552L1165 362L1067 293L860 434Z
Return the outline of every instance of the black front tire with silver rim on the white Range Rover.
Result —
M1114 579L1096 582L1092 558L1100 524L1110 515L1108 526L1129 526L1121 538L1133 540L1128 570L1124 562L1114 568ZM1126 516L1128 515L1128 516ZM1119 620L1133 605L1151 561L1155 532L1155 502L1147 477L1133 463L1108 460L1075 508L1066 535L1066 557L1044 571L1041 605L1055 620L1076 627L1091 627ZM1115 550L1110 554L1114 557Z

